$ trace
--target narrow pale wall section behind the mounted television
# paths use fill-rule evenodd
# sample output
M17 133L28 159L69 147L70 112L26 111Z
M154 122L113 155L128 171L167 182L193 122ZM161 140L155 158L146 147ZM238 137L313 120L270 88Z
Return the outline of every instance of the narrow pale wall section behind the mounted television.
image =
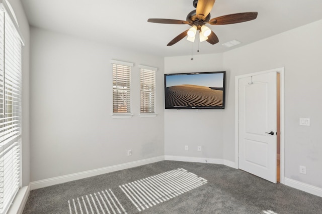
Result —
M224 71L222 54L166 57L165 73ZM222 159L223 112L221 109L166 109L165 154ZM189 150L185 151L185 145ZM201 152L197 151L201 146Z

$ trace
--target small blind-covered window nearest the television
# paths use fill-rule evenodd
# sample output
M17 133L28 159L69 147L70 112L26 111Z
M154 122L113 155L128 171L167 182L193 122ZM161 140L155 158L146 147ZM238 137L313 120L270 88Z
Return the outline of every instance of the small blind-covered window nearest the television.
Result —
M155 72L156 68L139 65L141 113L155 113Z

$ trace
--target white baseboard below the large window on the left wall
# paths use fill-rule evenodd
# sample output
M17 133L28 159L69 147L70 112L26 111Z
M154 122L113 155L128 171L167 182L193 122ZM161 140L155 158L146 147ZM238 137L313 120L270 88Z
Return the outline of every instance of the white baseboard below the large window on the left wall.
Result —
M8 210L8 214L22 214L30 192L30 185L21 187Z

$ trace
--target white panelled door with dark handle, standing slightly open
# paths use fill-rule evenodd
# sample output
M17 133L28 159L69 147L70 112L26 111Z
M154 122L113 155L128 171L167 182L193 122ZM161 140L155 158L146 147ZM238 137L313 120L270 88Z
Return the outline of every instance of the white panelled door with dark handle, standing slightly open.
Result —
M276 72L239 79L239 168L276 183Z

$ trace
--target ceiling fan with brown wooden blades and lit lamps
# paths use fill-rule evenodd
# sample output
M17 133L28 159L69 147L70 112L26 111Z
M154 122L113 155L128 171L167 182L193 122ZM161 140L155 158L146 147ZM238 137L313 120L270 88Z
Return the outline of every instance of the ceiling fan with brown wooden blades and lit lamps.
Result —
M213 31L211 31L206 24L210 25L228 25L241 22L247 22L255 20L257 18L257 12L250 13L238 13L230 14L217 18L210 19L210 11L215 4L215 0L194 0L193 6L196 10L190 12L187 16L187 21L172 20L172 19L148 19L147 22L160 23L160 24L178 24L178 25L190 25L189 30L186 30L174 38L168 46L172 46L185 38L188 35L187 40L194 42L196 33L199 31L200 42L207 41L214 45L219 42L218 37Z

